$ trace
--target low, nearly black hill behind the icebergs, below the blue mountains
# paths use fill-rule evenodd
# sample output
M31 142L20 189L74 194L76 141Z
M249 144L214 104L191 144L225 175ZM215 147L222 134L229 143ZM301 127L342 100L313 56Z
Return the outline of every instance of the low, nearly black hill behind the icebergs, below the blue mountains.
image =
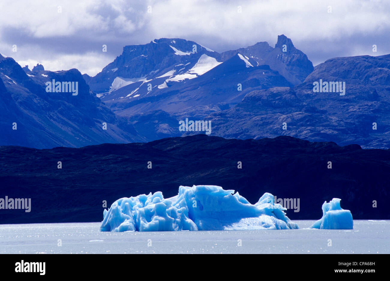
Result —
M287 211L291 219L321 218L321 205L333 197L342 199L354 219L390 219L389 174L388 150L287 136L236 140L194 135L42 150L1 146L0 198L31 198L32 207L30 213L2 209L0 223L101 221L103 200L109 207L121 197L150 191L162 191L167 198L177 195L180 185L193 184L234 189L252 204L264 192L300 198L300 211Z

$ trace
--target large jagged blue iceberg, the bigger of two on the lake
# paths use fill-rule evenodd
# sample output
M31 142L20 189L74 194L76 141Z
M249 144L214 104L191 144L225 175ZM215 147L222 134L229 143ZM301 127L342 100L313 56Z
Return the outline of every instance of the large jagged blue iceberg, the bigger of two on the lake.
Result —
M296 229L282 205L264 193L252 205L234 190L220 186L180 186L178 195L161 191L116 200L103 211L101 231Z

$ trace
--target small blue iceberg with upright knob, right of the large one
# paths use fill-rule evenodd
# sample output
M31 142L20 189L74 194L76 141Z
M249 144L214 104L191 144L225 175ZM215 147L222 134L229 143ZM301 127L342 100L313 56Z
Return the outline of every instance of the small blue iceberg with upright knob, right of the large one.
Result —
M344 210L340 206L341 199L333 198L329 203L322 204L323 216L310 228L319 229L353 229L351 211Z

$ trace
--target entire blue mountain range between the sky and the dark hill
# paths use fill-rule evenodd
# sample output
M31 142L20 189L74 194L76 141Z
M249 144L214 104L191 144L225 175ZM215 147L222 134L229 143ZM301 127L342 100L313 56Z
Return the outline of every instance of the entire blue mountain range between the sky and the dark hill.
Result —
M77 81L79 94L48 93ZM316 92L345 82L345 95ZM32 148L145 142L182 132L186 118L211 121L211 135L289 135L362 148L390 148L390 54L332 58L313 67L291 39L215 52L184 39L130 45L94 77L76 69L20 67L0 57L2 145ZM17 130L12 130L17 123ZM103 129L103 123L107 130Z

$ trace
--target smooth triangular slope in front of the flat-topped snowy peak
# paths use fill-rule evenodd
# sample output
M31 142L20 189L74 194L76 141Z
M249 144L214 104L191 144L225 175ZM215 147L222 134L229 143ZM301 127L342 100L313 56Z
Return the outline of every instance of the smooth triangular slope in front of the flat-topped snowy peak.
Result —
M195 66L201 60L202 57ZM221 106L234 106L251 90L292 86L268 65L253 66L250 61L236 54L199 77L181 82L171 82L175 76L160 77L159 83L165 86L154 86L151 91L145 82L132 83L102 97L102 100L120 116L163 110L184 118L220 111Z

